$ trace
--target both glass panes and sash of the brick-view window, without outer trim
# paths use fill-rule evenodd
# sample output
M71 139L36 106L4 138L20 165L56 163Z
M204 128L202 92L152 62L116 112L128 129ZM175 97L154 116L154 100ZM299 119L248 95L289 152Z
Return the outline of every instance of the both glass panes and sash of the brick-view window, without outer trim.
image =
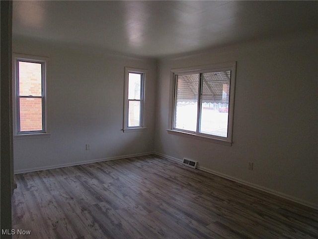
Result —
M43 130L42 64L19 61L20 131Z

